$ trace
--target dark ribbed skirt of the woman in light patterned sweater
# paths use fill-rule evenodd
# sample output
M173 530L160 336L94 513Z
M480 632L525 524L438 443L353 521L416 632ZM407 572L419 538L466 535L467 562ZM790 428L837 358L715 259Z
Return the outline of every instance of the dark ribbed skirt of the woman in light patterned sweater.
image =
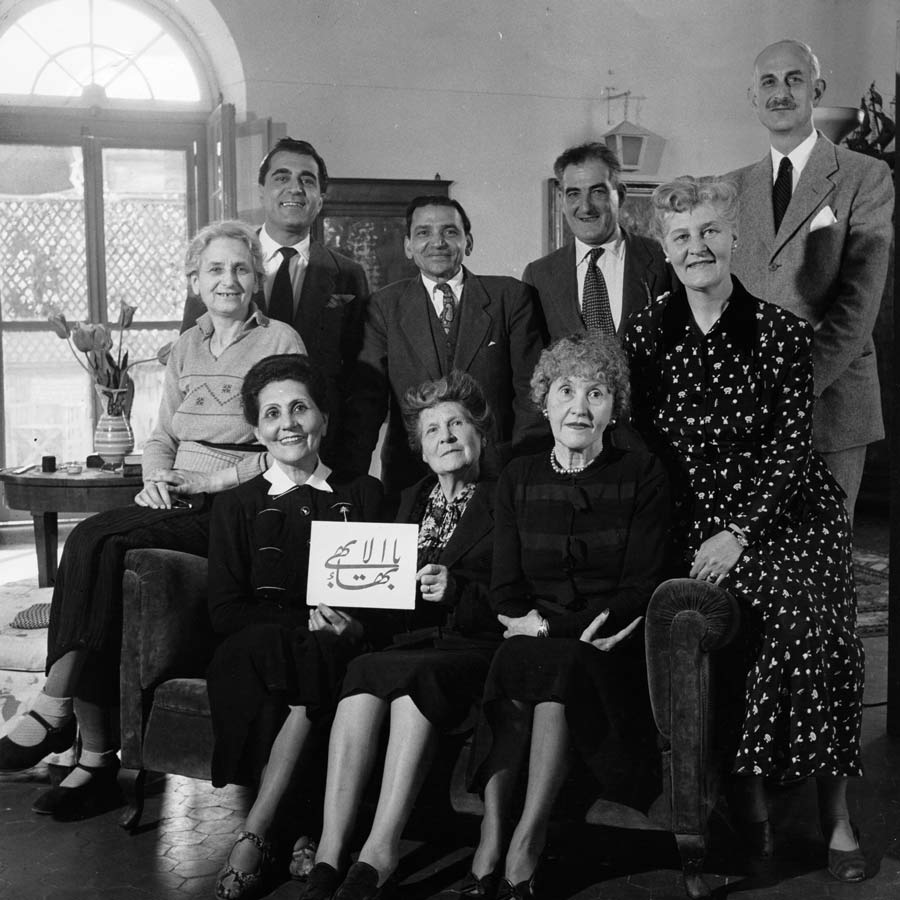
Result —
M90 651L75 695L117 704L125 554L158 548L205 557L208 546L208 501L198 509L124 506L80 522L66 538L53 588L47 671L70 650Z

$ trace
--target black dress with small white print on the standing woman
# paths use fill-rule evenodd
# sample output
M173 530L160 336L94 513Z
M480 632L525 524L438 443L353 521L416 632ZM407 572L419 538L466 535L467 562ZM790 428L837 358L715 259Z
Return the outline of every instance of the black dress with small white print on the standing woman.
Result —
M842 492L811 449L812 328L734 279L704 335L684 291L635 314L635 419L672 475L681 574L729 523L748 626L734 771L856 775L864 662Z

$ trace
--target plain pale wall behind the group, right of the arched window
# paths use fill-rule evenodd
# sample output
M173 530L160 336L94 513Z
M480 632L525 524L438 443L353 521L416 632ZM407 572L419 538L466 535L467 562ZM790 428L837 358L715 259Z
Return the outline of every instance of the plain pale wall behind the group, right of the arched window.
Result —
M896 0L213 3L246 79L226 99L286 122L335 176L452 179L472 268L513 275L544 252L554 157L609 127L604 87L646 97L629 118L666 138L644 177L725 171L765 151L746 99L760 49L811 44L828 104L855 106L873 79L887 99L900 16Z

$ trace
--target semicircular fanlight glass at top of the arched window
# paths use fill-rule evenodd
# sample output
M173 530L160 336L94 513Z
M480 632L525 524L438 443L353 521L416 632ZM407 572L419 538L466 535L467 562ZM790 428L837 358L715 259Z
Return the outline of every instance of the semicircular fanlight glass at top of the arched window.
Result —
M0 37L0 93L81 98L90 106L169 101L209 108L192 55L155 10L119 0L51 0Z

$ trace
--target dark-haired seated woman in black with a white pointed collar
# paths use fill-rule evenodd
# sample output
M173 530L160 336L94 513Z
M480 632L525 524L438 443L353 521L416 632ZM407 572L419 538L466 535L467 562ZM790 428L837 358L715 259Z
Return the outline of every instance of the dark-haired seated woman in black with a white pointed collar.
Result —
M324 603L307 606L312 522L377 521L382 500L380 483L369 476L331 483L318 452L328 427L326 398L308 357L256 363L241 400L272 464L220 494L213 507L209 613L225 638L207 676L213 784L237 780L248 757L268 751L257 798L216 882L220 898L264 886L272 855L266 835L278 803L313 727L327 725L334 711L347 663L365 649L358 617Z

